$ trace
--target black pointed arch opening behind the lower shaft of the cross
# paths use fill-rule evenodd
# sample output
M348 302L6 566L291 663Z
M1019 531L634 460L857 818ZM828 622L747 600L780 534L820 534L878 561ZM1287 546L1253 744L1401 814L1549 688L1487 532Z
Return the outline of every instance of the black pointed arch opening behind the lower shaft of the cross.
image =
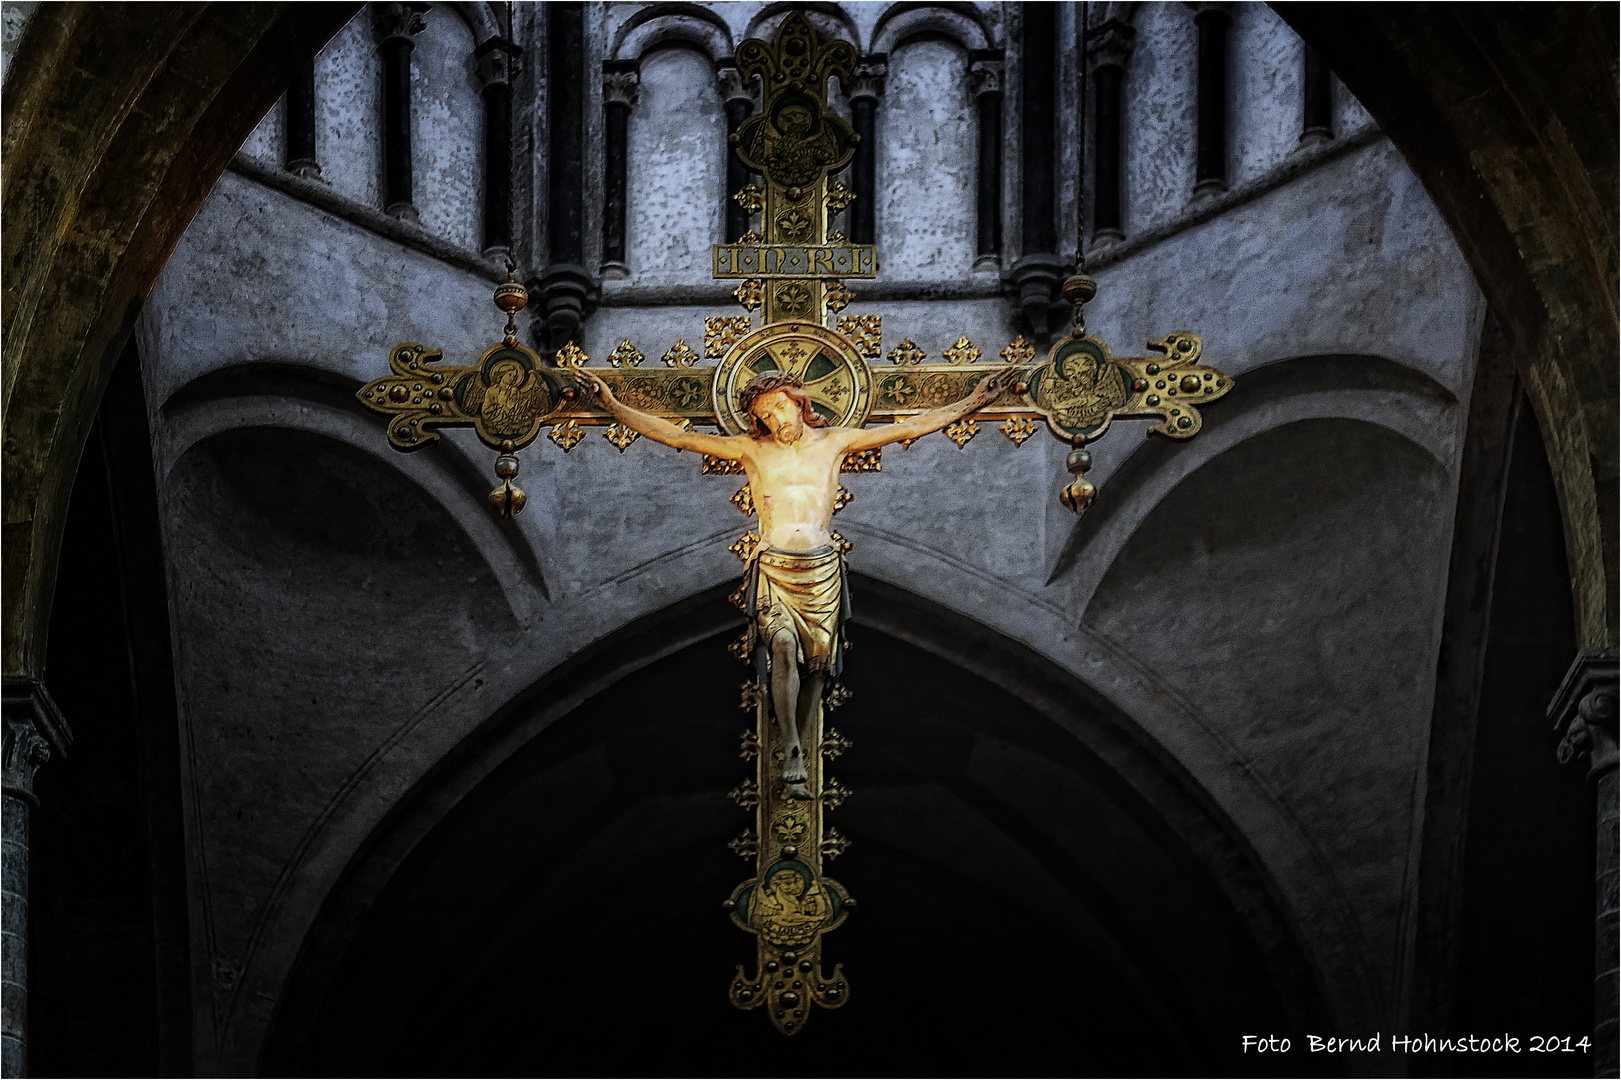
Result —
M1122 749L1120 718L1071 681L1059 691L1071 720L1096 725L1076 738L977 665L903 641L966 631L963 616L870 581L856 600L869 626L846 668L854 699L832 718L856 744L835 762L854 796L832 816L854 843L830 872L861 908L827 941L853 1001L793 1039L796 1069L1253 1074L1240 1031L1323 1030L1247 853L1213 840L1209 814L1169 791L1183 782L1144 748ZM721 603L689 621L725 626L708 610ZM731 634L689 637L587 697L426 829L342 942L318 923L323 945L300 966L331 973L321 988L295 973L267 1064L684 1075L788 1049L725 999L752 957L720 908L751 872L725 846L749 824L726 798L749 723ZM1024 670L1002 666L1039 697L1050 673L1024 655ZM1101 748L1110 728L1120 744ZM1148 774L1157 804L1140 791Z

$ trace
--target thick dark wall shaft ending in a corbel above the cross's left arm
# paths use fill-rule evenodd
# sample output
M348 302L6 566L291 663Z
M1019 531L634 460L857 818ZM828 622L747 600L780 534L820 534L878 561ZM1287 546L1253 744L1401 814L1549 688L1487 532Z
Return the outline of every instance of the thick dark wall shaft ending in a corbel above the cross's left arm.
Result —
M541 5L546 18L546 272L530 284L545 352L574 341L597 310L585 269L585 5Z

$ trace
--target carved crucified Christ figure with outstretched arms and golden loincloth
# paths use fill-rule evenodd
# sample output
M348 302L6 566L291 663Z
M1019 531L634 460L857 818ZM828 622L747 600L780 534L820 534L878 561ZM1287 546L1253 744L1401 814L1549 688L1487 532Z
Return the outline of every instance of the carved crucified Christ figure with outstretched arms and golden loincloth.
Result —
M1007 370L987 375L961 401L901 423L848 428L828 425L815 412L798 375L765 371L742 388L749 431L707 435L631 409L600 378L575 370L580 391L624 426L665 446L742 462L760 517L760 546L749 561L744 592L749 645L770 678L789 798L815 798L807 788L799 733L809 728L828 679L843 662L848 587L843 555L830 535L840 465L849 454L916 439L961 420L990 404L1010 375Z

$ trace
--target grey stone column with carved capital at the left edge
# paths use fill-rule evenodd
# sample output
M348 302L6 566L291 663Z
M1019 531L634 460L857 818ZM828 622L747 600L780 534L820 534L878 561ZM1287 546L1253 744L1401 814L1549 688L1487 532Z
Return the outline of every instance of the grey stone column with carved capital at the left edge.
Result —
M37 679L5 681L3 910L0 910L0 1075L28 1075L28 859L34 774L66 756L73 733Z

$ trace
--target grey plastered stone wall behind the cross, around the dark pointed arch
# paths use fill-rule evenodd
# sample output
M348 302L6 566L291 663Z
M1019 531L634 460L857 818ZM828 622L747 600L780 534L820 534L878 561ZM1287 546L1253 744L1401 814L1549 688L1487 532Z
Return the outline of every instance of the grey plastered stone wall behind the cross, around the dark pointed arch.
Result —
M648 10L588 6L588 73ZM765 6L705 10L734 47L760 32ZM1016 39L1005 31L1016 8L974 10L1008 47L1015 84ZM866 50L883 11L846 5L817 18ZM1099 499L1080 521L1055 498L1067 446L1039 433L1015 448L982 423L964 449L935 435L887 448L880 474L845 477L856 499L836 527L861 574L979 621L1131 717L1255 853L1336 1020L1376 1030L1396 1018L1410 949L1404 868L1422 827L1482 298L1381 138L1347 141L1282 186L1191 224L1191 19L1182 5L1141 5L1135 18L1127 238L1167 232L1097 271L1088 324L1117 355L1193 331L1237 389L1185 444L1118 422L1094 448ZM418 206L425 227L457 246L478 229L470 41L434 5L417 44ZM708 57L655 41L640 58L632 277L608 282L582 328L595 363L624 339L658 363L678 337L700 347L705 316L741 313L729 287L707 277L723 195ZM1238 5L1235 178L1300 152L1298 66L1298 42L1277 19ZM948 41L892 54L879 110L887 269L853 284L849 308L882 316L883 352L909 337L939 358L968 336L989 360L1015 336L1010 302L969 274L976 178L952 165L974 131L963 70ZM365 18L316 73L323 174L378 209L379 73ZM600 86L592 92L580 148L588 248L600 243L601 203ZM519 94L522 123L538 123L540 91L520 83ZM1060 101L1073 130L1076 89ZM1357 109L1344 97L1337 109L1344 138ZM1008 237L1016 117L1008 94ZM528 146L545 139L520 139ZM245 149L279 161L272 118ZM524 175L543 182L550 164L520 154L530 154ZM898 178L885 172L895 169ZM545 204L543 190L530 195L520 206ZM535 250L545 221L520 212L517 229L520 250ZM598 255L590 248L587 264ZM220 281L251 284L253 303L199 310L195 297ZM728 503L738 480L699 475L691 454L647 439L619 452L600 430L569 454L543 438L522 454L528 509L499 522L485 504L493 454L468 433L415 454L387 448L353 389L386 371L397 342L475 360L499 336L490 289L227 172L141 315L191 748L203 1072L256 1070L314 913L402 793L569 657L739 574L726 551L749 527Z

